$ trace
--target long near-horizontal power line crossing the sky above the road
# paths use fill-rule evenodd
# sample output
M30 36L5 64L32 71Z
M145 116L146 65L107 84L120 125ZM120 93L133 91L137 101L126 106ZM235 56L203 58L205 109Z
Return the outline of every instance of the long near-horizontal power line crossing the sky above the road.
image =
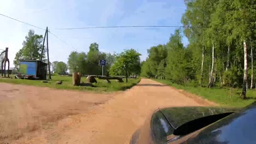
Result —
M58 29L58 30L66 30L66 29L127 28L127 27L184 27L184 28L205 28L205 27L192 27L192 26L109 26L109 27L76 27L76 28L55 28L55 29Z

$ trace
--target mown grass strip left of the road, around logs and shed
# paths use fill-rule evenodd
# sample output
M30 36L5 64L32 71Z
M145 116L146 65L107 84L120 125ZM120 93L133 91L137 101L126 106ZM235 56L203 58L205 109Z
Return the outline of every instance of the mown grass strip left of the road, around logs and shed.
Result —
M11 76L14 77L14 76ZM42 80L22 80L22 79L4 79L0 78L0 82L15 83L22 85L32 85L40 87L50 87L57 89L72 89L79 91L95 91L95 92L109 92L109 91L124 91L127 88L135 86L141 79L128 79L128 83L119 83L114 80L110 80L111 83L106 83L103 80L97 80L97 83L93 83L95 87L73 86L71 76L51 76L52 80L48 80L48 83L43 83ZM86 77L82 77L82 81L85 82ZM62 81L62 85L56 85L56 81Z

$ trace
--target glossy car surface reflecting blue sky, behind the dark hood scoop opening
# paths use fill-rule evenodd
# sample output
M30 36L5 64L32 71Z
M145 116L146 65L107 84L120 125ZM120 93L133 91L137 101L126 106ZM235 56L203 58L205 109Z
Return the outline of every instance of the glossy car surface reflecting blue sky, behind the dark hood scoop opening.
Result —
M256 103L199 130L181 143L256 143ZM174 142L174 143L177 143Z

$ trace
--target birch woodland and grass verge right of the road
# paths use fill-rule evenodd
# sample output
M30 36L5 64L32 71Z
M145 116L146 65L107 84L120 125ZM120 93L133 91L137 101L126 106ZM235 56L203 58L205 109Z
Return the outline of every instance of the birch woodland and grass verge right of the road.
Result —
M245 106L254 101L254 3L185 0L185 5L181 19L184 28L176 29L166 44L150 47L141 76L219 104ZM183 44L183 35L188 45Z

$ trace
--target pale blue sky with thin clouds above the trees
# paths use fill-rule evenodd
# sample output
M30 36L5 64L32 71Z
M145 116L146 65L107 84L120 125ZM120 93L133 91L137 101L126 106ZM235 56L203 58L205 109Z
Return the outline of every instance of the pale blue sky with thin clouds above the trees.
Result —
M49 34L50 61L67 62L71 51L88 52L91 43L98 43L100 51L121 52L135 49L145 60L147 49L166 44L175 28L105 28L57 30L69 27L97 26L182 26L181 17L185 12L183 0L79 0L79 1L0 1L0 14L45 28L60 37ZM0 15L0 49L9 47L10 65L13 67L15 53L29 29L44 35L42 29ZM186 38L183 38L188 44Z

